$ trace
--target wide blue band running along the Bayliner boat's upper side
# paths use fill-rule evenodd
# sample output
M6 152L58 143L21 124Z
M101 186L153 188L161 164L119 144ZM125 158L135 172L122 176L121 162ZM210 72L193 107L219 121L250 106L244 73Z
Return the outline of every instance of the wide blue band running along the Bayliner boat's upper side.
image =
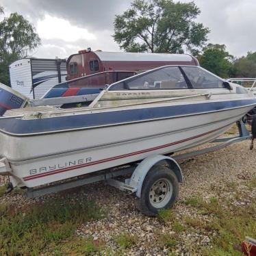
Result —
M256 99L222 101L212 103L196 103L168 107L149 107L136 110L119 110L95 114L81 114L75 116L60 116L23 120L19 118L0 119L0 129L13 134L54 132L68 129L83 129L101 125L116 125L122 123L143 121L157 118L171 118L191 114L202 114L226 110L234 107L256 105Z

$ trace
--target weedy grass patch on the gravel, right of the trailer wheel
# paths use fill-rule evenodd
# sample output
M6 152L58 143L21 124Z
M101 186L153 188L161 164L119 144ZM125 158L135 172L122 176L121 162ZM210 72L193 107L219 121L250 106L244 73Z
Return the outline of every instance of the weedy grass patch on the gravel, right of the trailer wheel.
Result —
M203 255L241 255L233 249L234 244L241 244L246 236L256 237L256 201L250 206L229 209L222 207L216 198L209 202L200 197L190 197L185 203L196 207L198 214L207 214L212 217L211 222L203 222L199 218L185 216L184 222L190 227L200 229L204 233L216 231L218 235L212 237L212 248L203 248ZM225 202L229 206L228 202Z

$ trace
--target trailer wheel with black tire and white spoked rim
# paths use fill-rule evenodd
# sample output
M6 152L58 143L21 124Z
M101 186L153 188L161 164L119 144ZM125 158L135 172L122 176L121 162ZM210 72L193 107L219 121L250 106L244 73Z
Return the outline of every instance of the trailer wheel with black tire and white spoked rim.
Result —
M170 168L155 165L146 175L138 208L147 216L155 216L159 209L167 209L174 205L179 195L179 181Z

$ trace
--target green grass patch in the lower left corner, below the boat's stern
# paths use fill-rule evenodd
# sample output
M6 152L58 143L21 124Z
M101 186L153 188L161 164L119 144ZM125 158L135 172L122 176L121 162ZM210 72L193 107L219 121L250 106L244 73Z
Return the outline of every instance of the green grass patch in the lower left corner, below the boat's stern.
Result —
M101 214L93 202L84 198L75 202L52 199L23 209L0 205L0 255L38 255L49 251L50 255L58 255L57 251L66 248L66 241L75 241L87 248L84 251L92 251L91 242L78 240L75 229L88 220L101 218Z

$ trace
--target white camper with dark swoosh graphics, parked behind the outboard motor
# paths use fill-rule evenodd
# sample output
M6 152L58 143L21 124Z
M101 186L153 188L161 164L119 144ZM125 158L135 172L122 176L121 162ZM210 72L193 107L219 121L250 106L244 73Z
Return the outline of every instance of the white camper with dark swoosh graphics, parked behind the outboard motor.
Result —
M29 99L40 99L55 84L66 81L66 60L25 58L9 66L11 86Z

